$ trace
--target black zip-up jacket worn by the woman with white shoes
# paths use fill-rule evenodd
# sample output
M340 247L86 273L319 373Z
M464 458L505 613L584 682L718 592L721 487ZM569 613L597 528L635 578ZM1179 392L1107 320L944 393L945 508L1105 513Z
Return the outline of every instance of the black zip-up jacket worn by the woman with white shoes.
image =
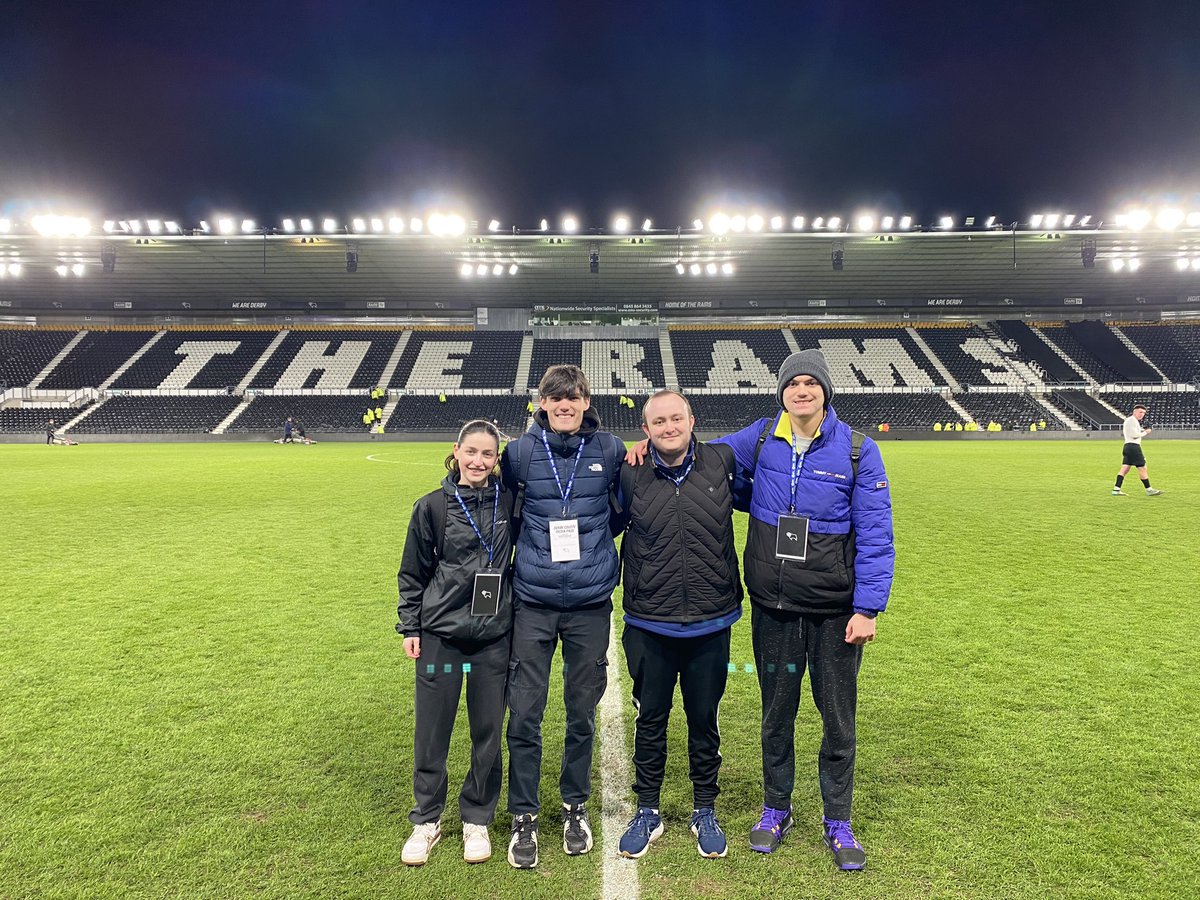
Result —
M458 487L467 509L484 538L492 542L492 568L504 574L499 612L472 616L475 572L487 566L487 553L455 499L457 476L450 473L442 487L413 504L408 536L396 581L400 586L400 623L406 637L430 631L452 641L493 641L512 630L512 494L492 478L475 491ZM499 491L496 534L492 535L492 505ZM443 506L444 504L444 506ZM443 515L444 512L444 515ZM439 536L437 522L444 521Z

